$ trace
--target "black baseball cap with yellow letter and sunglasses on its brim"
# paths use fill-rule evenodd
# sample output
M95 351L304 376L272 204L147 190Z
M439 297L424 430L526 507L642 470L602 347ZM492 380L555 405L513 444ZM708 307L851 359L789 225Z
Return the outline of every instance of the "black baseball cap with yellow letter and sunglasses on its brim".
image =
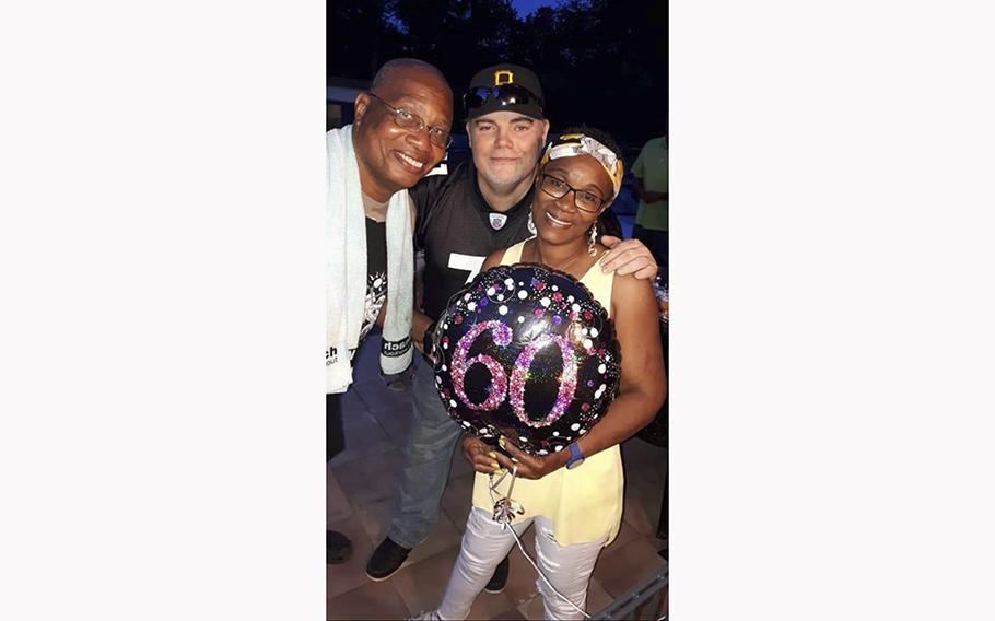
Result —
M545 119L542 85L530 69L502 62L478 71L463 96L467 119L495 112L513 112Z

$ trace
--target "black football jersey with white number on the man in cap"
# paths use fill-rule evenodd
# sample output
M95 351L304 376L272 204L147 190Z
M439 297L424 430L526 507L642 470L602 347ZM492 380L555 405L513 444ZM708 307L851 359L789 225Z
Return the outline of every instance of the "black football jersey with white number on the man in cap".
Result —
M491 209L472 160L431 175L410 190L418 212L414 246L425 253L424 313L437 319L454 293L473 280L488 255L535 234L528 211L535 188L510 210Z

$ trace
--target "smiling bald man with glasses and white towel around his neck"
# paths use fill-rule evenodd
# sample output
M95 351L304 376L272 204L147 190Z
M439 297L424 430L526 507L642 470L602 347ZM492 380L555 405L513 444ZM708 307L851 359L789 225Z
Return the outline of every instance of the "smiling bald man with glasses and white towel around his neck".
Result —
M445 156L453 92L433 66L384 65L355 99L355 121L326 136L327 458L343 448L339 395L352 383L352 358L376 323L381 367L411 363L413 206L407 188ZM352 543L326 531L328 563L347 561Z

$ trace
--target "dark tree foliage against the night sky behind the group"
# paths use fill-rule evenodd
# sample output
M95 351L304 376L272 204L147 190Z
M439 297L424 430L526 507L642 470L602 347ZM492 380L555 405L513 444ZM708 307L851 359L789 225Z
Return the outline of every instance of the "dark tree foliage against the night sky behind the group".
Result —
M328 20L329 75L370 79L409 56L458 98L475 72L510 61L539 74L554 129L597 126L630 148L665 131L666 0L567 0L524 20L510 0L329 0ZM457 102L457 128L461 113Z

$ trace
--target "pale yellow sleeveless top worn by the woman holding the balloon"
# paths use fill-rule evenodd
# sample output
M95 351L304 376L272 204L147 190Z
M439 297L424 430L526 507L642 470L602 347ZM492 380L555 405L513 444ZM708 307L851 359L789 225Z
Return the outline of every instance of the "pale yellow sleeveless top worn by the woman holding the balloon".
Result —
M506 249L501 265L519 262L524 246L525 242L522 242ZM601 273L599 265L602 258L604 255L587 270L581 282L610 316L614 274ZM495 481L499 478L500 474L494 476ZM504 497L510 481L511 476L505 477L494 491L495 499ZM476 473L473 506L490 514L494 511L494 501L489 482L488 474ZM608 546L614 541L622 524L623 482L618 445L585 458L583 464L572 470L560 468L537 481L516 478L512 500L522 504L525 514L515 515L513 523L541 515L552 523L553 536L561 546L602 539Z

